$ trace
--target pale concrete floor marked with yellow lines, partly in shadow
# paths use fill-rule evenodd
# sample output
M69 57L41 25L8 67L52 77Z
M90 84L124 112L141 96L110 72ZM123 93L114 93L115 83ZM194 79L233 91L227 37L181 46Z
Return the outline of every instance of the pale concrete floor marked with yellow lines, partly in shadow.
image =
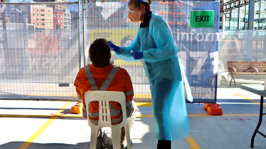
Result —
M187 104L191 137L172 141L172 149L251 148L251 136L259 121L259 102L260 96L239 86L224 86L217 89L222 116L210 116L203 104ZM0 149L88 149L90 127L81 114L70 113L75 104L0 100ZM156 149L151 107L138 109L131 131L132 149ZM265 122L259 130L266 133ZM257 134L254 148L265 149L265 140Z

